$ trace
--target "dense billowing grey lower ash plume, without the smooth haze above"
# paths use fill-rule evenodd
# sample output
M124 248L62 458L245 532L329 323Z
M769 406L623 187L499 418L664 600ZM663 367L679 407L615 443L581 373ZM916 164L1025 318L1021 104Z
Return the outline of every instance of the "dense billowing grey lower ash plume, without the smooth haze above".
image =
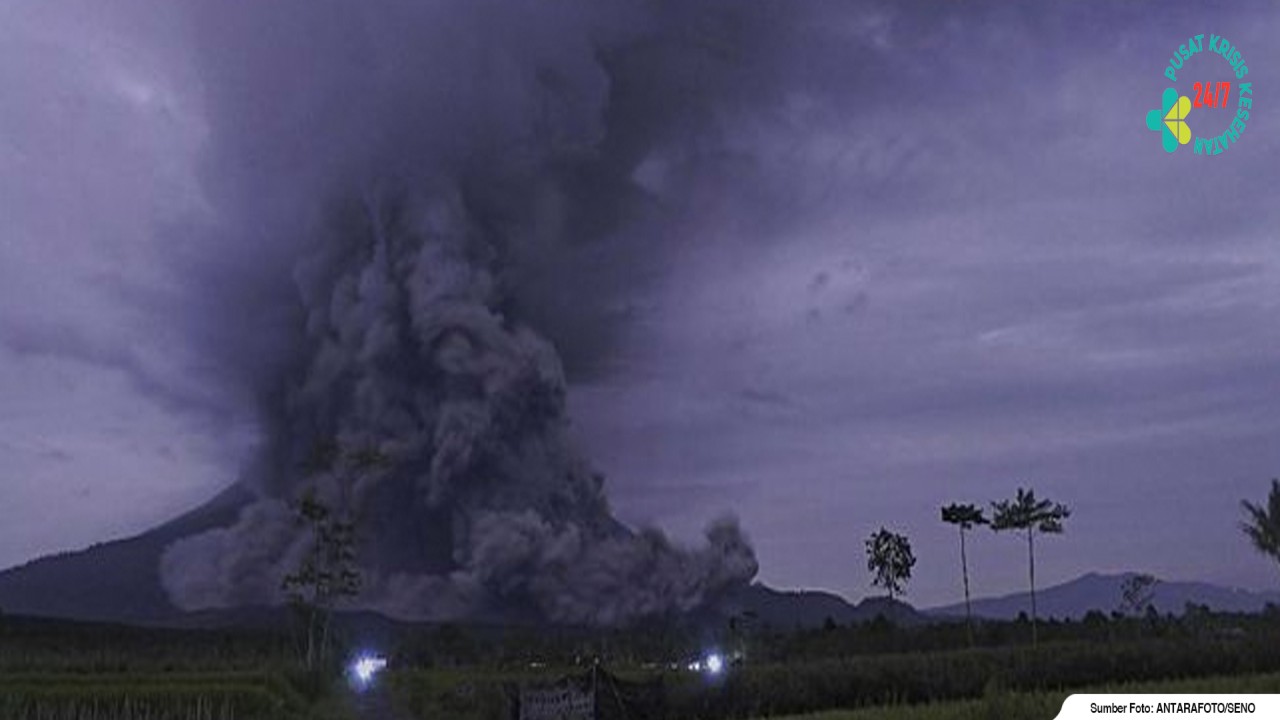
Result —
M613 519L567 437L554 348L499 310L503 238L456 187L428 184L337 210L298 268L306 350L268 448L278 461L237 524L166 551L174 602L279 602L308 542L288 502L308 487L356 519L356 605L401 618L612 624L749 582L755 556L732 520L689 551ZM300 470L326 438L387 461Z

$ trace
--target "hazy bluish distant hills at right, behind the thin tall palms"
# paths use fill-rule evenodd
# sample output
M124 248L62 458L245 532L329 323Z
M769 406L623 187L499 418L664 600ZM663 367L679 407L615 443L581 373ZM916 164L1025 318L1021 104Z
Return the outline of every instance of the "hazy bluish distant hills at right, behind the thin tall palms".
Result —
M1036 609L1041 618L1080 619L1091 610L1110 614L1120 606L1124 582L1137 573L1102 575L1089 573L1079 578L1036 591ZM1165 582L1156 584L1152 605L1161 615L1183 612L1188 602L1207 605L1225 612L1258 612L1268 602L1280 605L1280 592L1253 592L1226 588L1210 583ZM1030 614L1030 594L1025 592L973 601L973 614L993 620L1010 620L1019 612ZM929 609L925 612L940 616L963 616L964 603Z

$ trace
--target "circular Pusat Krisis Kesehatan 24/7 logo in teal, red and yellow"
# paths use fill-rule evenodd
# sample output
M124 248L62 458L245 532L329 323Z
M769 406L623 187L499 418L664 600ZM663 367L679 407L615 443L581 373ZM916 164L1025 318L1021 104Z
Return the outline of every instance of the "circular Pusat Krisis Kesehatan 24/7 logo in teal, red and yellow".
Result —
M1197 155L1221 155L1240 141L1249 122L1248 74L1244 54L1225 37L1187 38L1169 58L1165 78L1174 85L1165 88L1160 108L1147 111L1147 129L1160 133L1165 152L1192 145Z

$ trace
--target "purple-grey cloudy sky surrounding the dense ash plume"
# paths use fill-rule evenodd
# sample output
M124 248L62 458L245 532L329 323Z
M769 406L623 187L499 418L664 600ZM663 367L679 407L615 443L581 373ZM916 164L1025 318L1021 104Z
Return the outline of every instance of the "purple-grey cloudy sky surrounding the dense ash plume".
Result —
M214 5L0 4L0 566L234 482L316 196L518 136L476 68L532 58L607 161L508 282L625 520L735 512L762 579L851 597L887 525L931 605L959 594L938 506L1023 484L1075 511L1044 584L1280 584L1236 528L1280 475L1274 5ZM1235 79L1222 35L1257 114L1169 155L1144 118L1198 33L1180 91ZM975 592L1021 552L978 536Z

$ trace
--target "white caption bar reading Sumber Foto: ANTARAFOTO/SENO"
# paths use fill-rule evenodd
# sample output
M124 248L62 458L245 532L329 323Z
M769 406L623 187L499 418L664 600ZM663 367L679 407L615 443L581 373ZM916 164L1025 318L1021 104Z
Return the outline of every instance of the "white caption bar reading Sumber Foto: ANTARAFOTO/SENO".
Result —
M1073 694L1055 720L1280 717L1280 694Z

